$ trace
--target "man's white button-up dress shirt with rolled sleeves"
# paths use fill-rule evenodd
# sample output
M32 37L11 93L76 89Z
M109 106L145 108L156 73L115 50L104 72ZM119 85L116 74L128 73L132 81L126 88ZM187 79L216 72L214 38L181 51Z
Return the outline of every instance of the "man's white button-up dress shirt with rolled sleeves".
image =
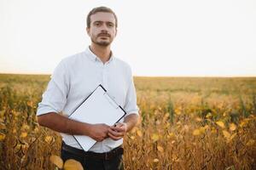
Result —
M113 57L102 63L90 48L79 54L62 59L51 75L48 87L38 104L37 116L55 112L69 116L75 108L99 85L127 112L138 114L137 96L131 75L131 67L124 61ZM83 113L92 114L92 113ZM123 120L122 120L123 121ZM73 135L61 133L64 142L82 149ZM97 142L90 151L106 152L123 143L104 139Z

